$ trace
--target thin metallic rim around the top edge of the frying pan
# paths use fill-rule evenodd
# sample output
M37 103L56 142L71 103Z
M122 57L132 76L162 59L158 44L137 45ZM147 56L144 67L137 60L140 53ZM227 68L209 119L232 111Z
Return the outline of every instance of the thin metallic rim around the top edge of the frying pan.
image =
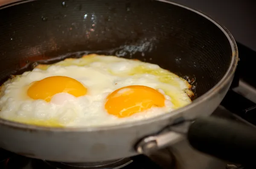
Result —
M30 2L30 1L34 1L34 0L17 1L16 3L4 5L3 8L7 8L9 6L17 5L20 3L26 3L26 2ZM239 61L236 41L233 38L233 36L231 35L230 31L228 31L224 25L221 25L220 23L218 23L218 21L213 20L211 17L209 17L207 14L203 14L201 11L189 8L187 6L180 5L178 3L169 2L167 0L155 0L155 1L179 6L181 8L185 8L189 11L192 11L196 14L199 14L202 17L206 18L207 20L211 21L213 24L215 24L227 37L228 41L230 42L231 51L232 51L232 56L230 56L231 57L230 66L227 69L224 76L221 78L221 80L216 85L214 85L210 90L208 90L202 96L198 97L198 99L193 101L191 104L188 104L185 107L181 107L177 110L173 110L171 113L166 113L163 115L158 115L154 118L149 118L149 119L140 120L140 121L134 121L134 122L130 122L130 123L123 123L123 124L109 125L109 126L107 125L107 126L100 126L100 127L43 127L43 126L36 126L36 125L31 125L31 124L23 124L23 123L9 121L9 120L0 118L0 125L14 127L14 128L18 128L21 130L30 130L30 131L40 130L40 131L46 131L46 132L92 132L92 131L100 132L100 131L106 131L106 130L120 130L120 129L130 128L130 127L141 126L144 124L150 124L155 121L163 121L166 119L170 119L174 115L180 114L186 110L196 107L199 104L202 104L204 101L209 100L212 96L214 96L216 93L218 93L225 85L227 85L228 82L230 82L230 79L233 77L233 74L235 73L235 70L236 70L236 67L237 67L237 64ZM3 9L3 8L0 7L0 9Z

